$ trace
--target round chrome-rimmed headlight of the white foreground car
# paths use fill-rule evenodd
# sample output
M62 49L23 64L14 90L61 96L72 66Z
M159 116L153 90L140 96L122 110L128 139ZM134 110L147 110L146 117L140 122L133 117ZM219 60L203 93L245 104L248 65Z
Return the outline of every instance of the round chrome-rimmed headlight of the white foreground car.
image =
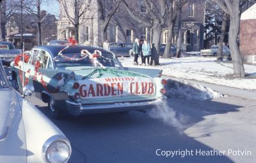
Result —
M71 146L67 138L57 135L47 139L43 146L43 154L46 162L64 163L71 155Z

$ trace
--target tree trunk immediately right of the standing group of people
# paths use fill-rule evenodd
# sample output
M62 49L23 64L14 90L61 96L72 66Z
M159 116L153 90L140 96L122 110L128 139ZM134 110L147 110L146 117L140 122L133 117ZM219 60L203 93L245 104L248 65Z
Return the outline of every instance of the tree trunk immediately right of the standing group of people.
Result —
M162 25L158 21L154 22L153 27L152 27L152 31L153 31L153 40L152 40L153 65L159 65L159 46L160 46L162 30L163 30Z

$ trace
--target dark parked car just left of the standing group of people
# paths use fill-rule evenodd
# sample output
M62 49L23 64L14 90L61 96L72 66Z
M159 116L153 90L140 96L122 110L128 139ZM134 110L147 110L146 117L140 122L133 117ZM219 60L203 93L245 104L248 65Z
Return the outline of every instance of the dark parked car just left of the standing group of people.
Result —
M109 50L115 53L116 57L131 57L131 49L132 43L111 43L109 45Z

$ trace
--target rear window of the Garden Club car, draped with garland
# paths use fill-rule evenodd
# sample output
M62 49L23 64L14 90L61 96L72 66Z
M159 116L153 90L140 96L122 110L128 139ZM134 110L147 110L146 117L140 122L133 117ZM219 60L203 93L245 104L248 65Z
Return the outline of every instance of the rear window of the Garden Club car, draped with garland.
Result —
M56 67L117 67L121 69L120 62L112 55L102 54L94 56L92 59L89 56L83 56L81 53L57 55L54 58Z

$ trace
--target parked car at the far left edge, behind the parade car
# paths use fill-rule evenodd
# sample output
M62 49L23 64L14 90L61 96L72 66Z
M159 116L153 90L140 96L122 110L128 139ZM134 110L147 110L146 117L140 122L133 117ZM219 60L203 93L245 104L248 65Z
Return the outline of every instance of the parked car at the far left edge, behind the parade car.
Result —
M21 53L21 50L15 49L12 43L0 41L0 59L4 64L10 64L12 60Z

